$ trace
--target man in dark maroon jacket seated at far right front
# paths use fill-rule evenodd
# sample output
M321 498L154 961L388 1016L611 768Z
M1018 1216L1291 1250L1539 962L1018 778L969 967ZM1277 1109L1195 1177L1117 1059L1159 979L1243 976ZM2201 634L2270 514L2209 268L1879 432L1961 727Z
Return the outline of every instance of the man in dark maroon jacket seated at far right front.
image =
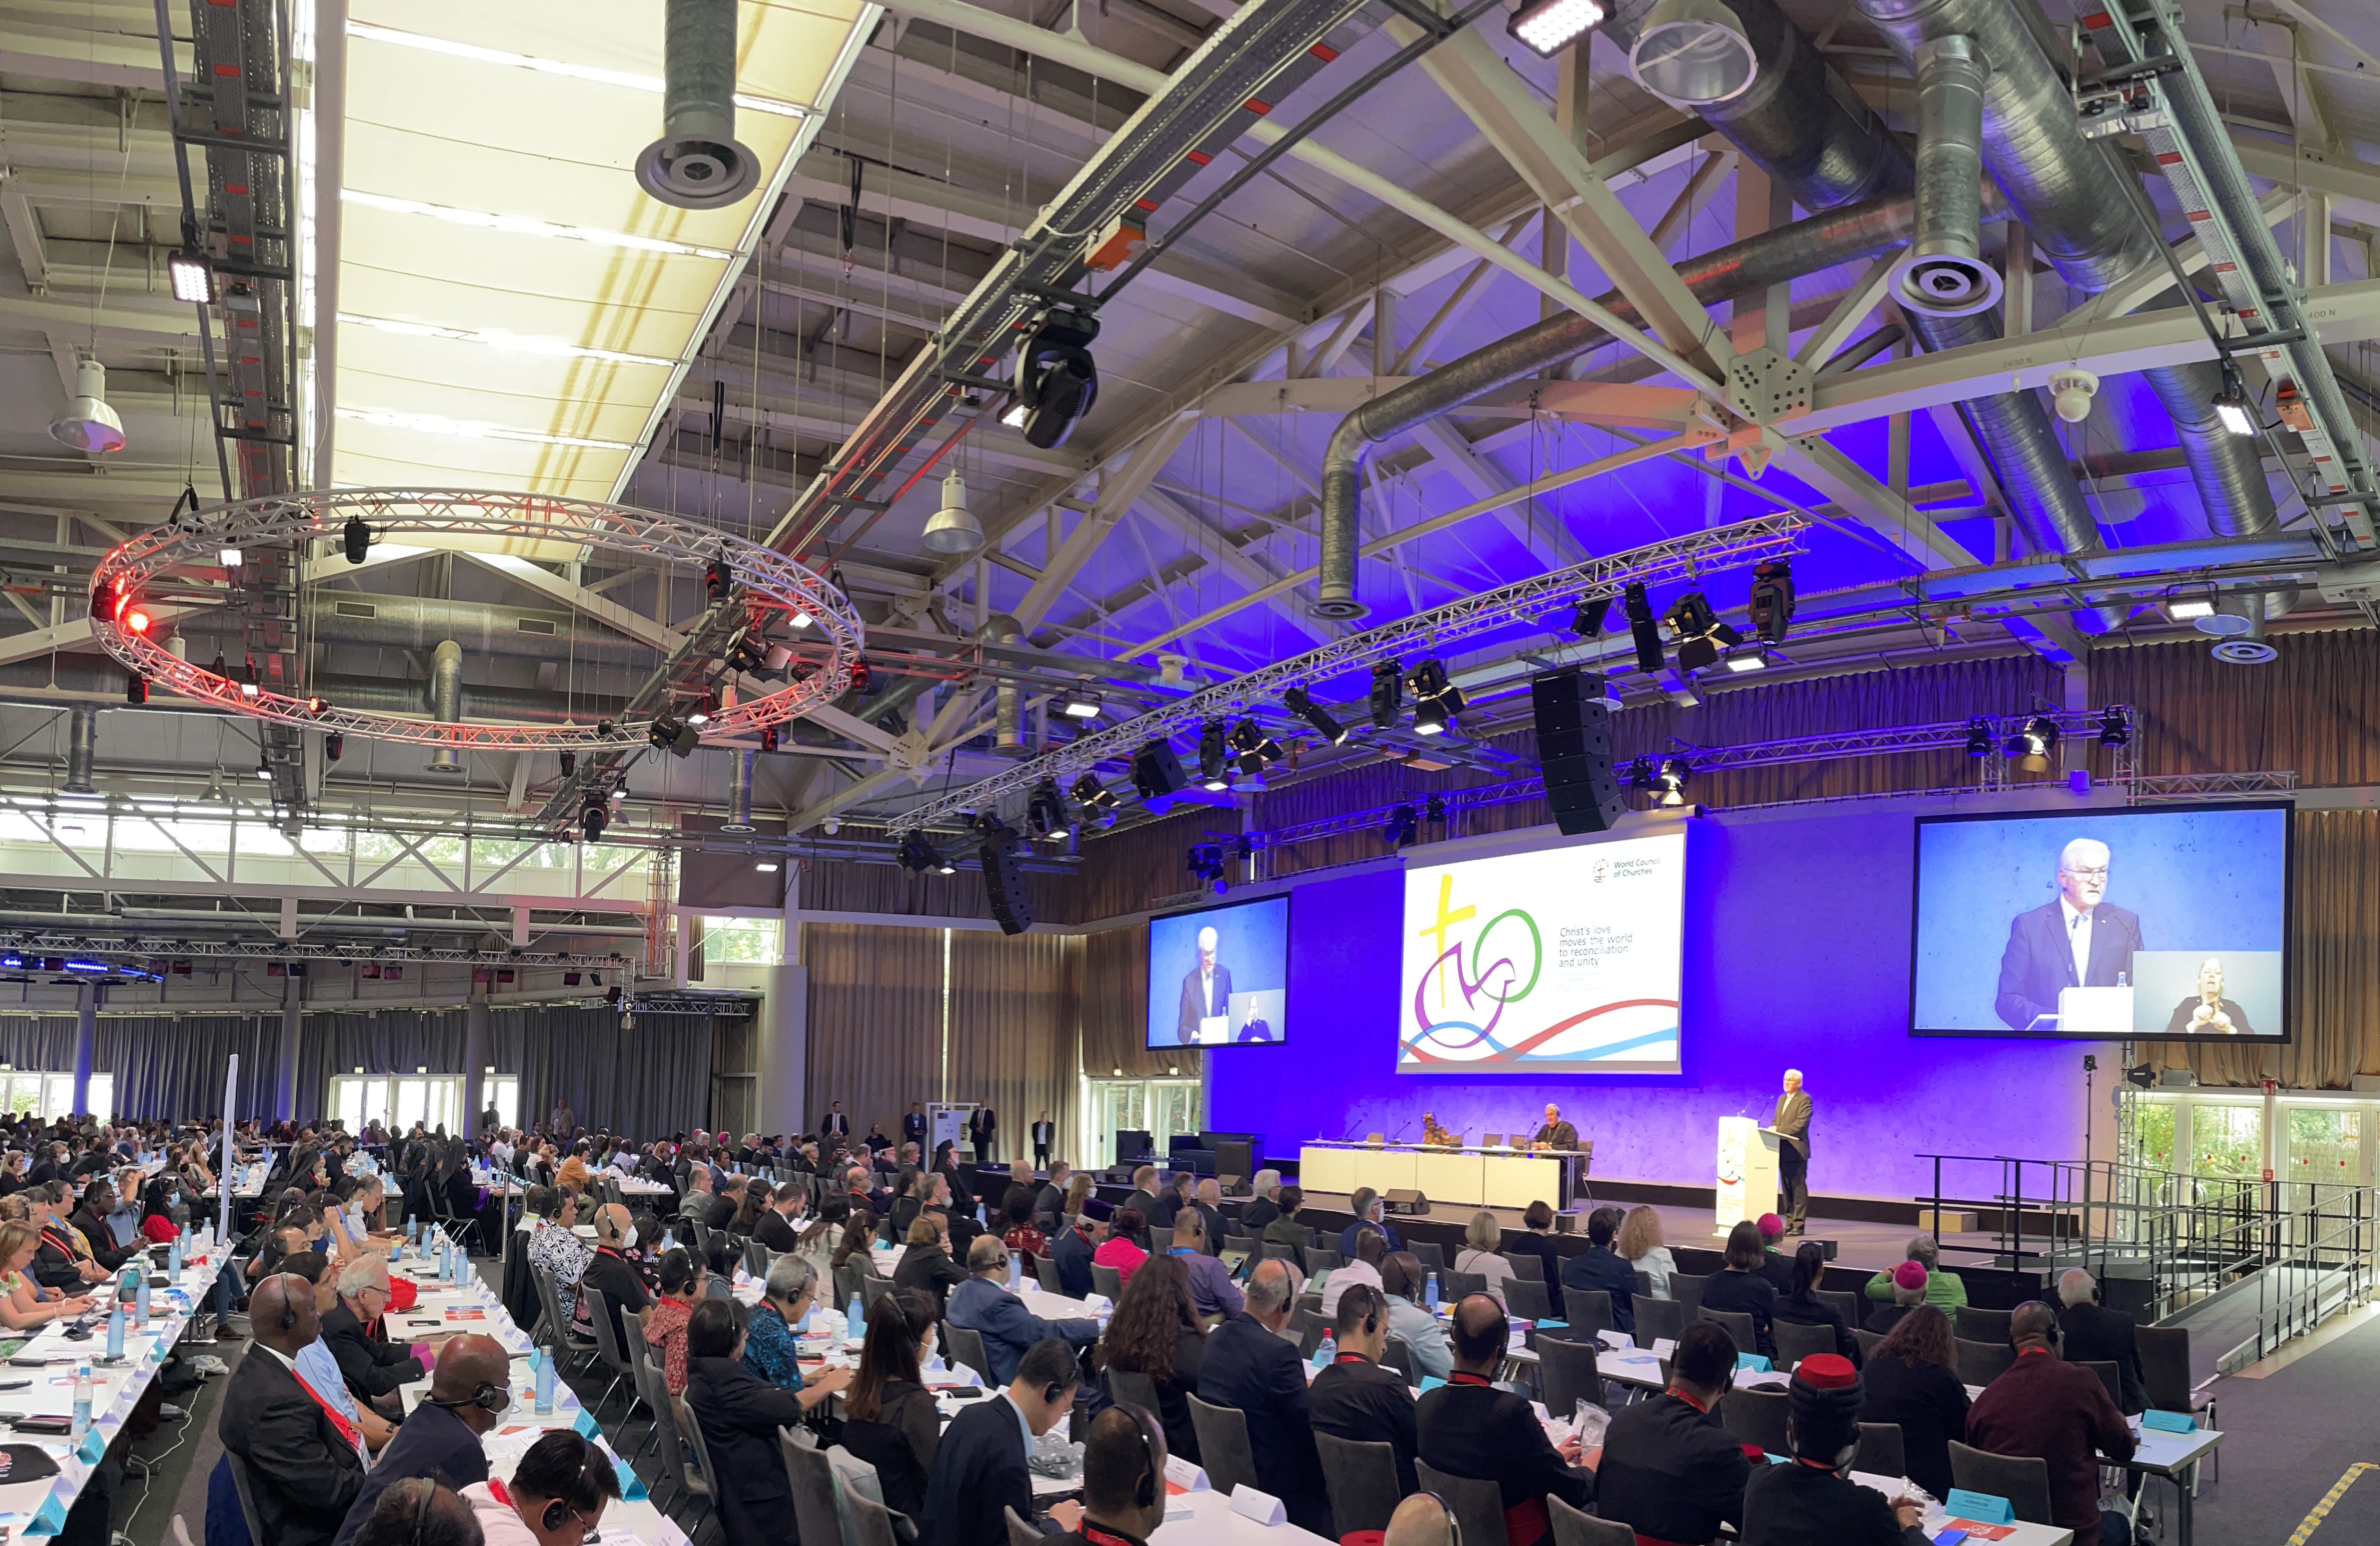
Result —
M1966 1413L1966 1441L2049 1468L2049 1522L2090 1541L2128 1541L2123 1515L2099 1513L2099 1465L2132 1458L2135 1439L2099 1375L2059 1356L2059 1318L2028 1299L2009 1313L2016 1363Z

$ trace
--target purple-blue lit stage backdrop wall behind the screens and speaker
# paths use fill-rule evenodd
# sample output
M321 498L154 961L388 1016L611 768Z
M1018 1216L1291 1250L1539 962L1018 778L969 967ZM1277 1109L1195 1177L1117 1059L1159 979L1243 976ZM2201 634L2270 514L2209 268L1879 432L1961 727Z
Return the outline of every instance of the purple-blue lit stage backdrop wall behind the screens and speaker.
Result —
M1397 959L1404 882L1376 871L1299 887L1297 1035L1207 1054L1209 1125L1264 1132L1295 1158L1314 1137L1418 1139L1423 1111L1473 1142L1533 1132L1557 1101L1595 1139L1595 1175L1706 1187L1718 1118L1766 1120L1778 1077L1799 1068L1816 1101L1814 1192L1914 1199L1933 1187L1925 1151L2080 1158L2082 1054L2102 1054L2106 1099L2113 1044L1909 1037L1909 809L1699 825L1680 1075L1397 1075L1397 973L1383 963Z

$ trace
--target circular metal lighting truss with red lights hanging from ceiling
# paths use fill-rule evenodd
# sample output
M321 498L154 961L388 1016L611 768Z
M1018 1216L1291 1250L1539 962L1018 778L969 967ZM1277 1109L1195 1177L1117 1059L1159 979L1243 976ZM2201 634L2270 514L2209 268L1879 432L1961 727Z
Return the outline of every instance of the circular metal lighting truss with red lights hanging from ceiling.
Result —
M90 633L107 654L157 687L283 725L457 752L619 749L647 740L652 721L600 721L593 725L445 723L428 714L343 709L319 697L288 697L259 683L217 675L150 637L145 597L176 590L190 578L190 571L221 568L224 549L307 549L321 540L331 545L331 552L338 552L347 523L357 519L371 526L374 542L419 538L424 547L462 542L486 547L490 540L512 538L576 542L697 571L724 561L733 571L733 595L743 602L754 635L778 621L809 618L800 630L781 630L781 637L793 642L795 659L814 671L802 680L788 678L776 692L709 709L709 718L702 723L704 740L757 735L766 725L800 718L809 709L833 702L852 685L852 668L862 659L866 630L843 592L771 547L626 504L488 490L340 488L243 499L186 514L100 559L90 587ZM162 595L157 604L174 602ZM709 656L712 661L731 637L721 640ZM685 661L685 666L693 678L695 661ZM669 709L664 706L664 714Z

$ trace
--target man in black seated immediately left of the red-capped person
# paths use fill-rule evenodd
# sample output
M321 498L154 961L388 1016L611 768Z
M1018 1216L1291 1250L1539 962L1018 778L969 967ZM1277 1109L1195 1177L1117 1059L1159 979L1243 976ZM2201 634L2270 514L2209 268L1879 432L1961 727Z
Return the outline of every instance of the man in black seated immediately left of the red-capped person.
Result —
M1752 1460L1718 1420L1735 1384L1735 1341L1711 1320L1690 1320L1668 1358L1668 1391L1623 1406L1595 1468L1595 1513L1645 1541L1716 1541L1745 1527Z

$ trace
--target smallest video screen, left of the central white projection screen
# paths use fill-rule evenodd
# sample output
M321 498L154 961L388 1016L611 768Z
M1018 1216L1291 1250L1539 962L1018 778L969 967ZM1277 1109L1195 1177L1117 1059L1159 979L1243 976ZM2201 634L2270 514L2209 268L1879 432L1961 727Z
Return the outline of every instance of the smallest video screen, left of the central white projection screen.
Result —
M1288 999L1288 897L1150 918L1150 1047L1278 1047Z

